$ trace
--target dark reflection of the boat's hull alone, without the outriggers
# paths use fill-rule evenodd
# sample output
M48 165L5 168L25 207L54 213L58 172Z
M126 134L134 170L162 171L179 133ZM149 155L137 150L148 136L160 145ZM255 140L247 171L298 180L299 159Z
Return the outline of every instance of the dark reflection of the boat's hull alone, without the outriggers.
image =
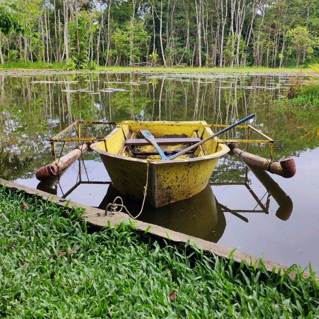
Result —
M139 213L141 203L119 193L112 184L99 208L105 209L117 196L123 198L124 205L133 216ZM215 201L210 185L191 198L156 209L145 207L138 219L215 243L221 238L226 227L224 213Z

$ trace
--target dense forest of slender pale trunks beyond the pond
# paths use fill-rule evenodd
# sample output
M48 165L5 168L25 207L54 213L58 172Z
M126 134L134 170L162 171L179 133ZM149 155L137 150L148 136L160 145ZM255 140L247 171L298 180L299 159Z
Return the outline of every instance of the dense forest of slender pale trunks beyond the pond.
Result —
M5 0L0 62L298 66L319 56L318 11L319 0Z

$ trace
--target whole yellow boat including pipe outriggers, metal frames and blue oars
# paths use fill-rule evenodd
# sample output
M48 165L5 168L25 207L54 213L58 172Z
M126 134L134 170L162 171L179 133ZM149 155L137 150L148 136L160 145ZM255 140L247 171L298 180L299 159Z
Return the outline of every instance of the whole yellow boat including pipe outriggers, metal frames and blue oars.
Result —
M76 121L51 138L53 161L36 172L39 180L59 175L89 147L100 154L112 184L121 193L160 207L189 198L205 188L218 159L230 149L250 165L283 177L296 173L294 159L275 161L274 140L251 125L241 123L210 125L205 121L190 122L86 122ZM106 137L86 137L83 131L91 125L116 125ZM247 139L219 139L218 135L237 127L247 131ZM212 129L221 128L218 133ZM63 138L76 131L76 137ZM251 139L252 133L262 139ZM63 157L56 157L55 143L77 142L78 147ZM93 143L95 142L95 143ZM93 143L93 144L92 144ZM270 160L241 151L237 143L268 144ZM63 145L64 145L63 144ZM228 144L228 146L227 146ZM63 149L63 148L62 148Z

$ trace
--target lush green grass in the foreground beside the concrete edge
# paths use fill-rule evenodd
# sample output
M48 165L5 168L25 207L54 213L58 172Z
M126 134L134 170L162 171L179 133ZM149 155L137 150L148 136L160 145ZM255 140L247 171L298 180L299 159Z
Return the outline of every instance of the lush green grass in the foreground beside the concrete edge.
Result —
M160 248L124 224L90 234L82 212L0 188L0 317L317 318L312 272Z

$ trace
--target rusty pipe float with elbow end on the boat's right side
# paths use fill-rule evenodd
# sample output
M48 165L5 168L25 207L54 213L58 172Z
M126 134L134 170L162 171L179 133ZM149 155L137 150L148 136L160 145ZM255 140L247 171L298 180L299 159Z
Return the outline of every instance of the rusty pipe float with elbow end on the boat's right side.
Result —
M237 143L229 143L228 147L241 159L247 161L251 165L268 170L273 174L277 174L285 178L293 177L296 174L296 164L293 158L287 158L281 161L269 161L260 156L238 149Z

